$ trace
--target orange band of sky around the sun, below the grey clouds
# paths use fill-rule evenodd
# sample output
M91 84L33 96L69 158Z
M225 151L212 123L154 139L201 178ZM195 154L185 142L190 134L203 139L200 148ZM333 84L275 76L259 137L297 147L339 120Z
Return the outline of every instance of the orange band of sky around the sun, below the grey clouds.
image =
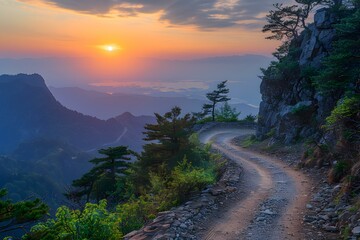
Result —
M0 57L196 58L256 53L269 55L276 41L259 29L233 26L199 30L160 21L161 12L134 17L78 13L43 2L0 0ZM99 45L116 44L112 53Z

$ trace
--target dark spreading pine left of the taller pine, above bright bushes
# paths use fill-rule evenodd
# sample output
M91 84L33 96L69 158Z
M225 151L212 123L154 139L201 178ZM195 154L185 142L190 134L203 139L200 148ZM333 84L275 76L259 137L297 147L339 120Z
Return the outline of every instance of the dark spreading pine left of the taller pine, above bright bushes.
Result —
M116 197L117 201L121 200L121 196L113 196L113 194L118 183L124 181L126 170L131 166L130 156L135 153L124 146L100 149L99 153L106 157L90 160L95 166L80 179L73 181L72 186L75 189L66 194L69 199L77 203L84 197L86 202L91 199L96 201L108 199L110 196Z

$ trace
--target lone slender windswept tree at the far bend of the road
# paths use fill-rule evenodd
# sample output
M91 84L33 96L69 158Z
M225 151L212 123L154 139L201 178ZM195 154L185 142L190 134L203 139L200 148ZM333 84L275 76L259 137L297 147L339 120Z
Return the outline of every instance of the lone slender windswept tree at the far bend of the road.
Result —
M226 87L226 83L227 80L222 81L217 85L216 90L206 94L206 98L209 99L211 103L204 104L203 111L205 114L211 113L212 121L215 121L216 104L230 100L230 98L227 96L229 89Z

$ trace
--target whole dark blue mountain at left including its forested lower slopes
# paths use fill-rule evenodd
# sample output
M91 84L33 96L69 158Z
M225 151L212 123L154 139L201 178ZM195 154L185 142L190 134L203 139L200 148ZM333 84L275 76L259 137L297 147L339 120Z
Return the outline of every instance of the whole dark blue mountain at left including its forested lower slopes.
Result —
M40 197L52 210L66 202L66 188L89 170L98 149L140 151L144 125L155 121L130 113L104 121L69 110L38 74L0 76L0 116L0 187L16 201Z

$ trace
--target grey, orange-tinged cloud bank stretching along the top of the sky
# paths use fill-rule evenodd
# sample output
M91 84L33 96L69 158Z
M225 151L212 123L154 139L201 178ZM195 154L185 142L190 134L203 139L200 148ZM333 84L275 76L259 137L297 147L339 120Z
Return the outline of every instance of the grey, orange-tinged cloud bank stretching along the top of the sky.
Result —
M25 1L25 0L23 0ZM170 25L191 25L200 29L232 26L258 28L269 0L41 0L51 5L95 15L119 17L140 13L161 13L160 21Z

